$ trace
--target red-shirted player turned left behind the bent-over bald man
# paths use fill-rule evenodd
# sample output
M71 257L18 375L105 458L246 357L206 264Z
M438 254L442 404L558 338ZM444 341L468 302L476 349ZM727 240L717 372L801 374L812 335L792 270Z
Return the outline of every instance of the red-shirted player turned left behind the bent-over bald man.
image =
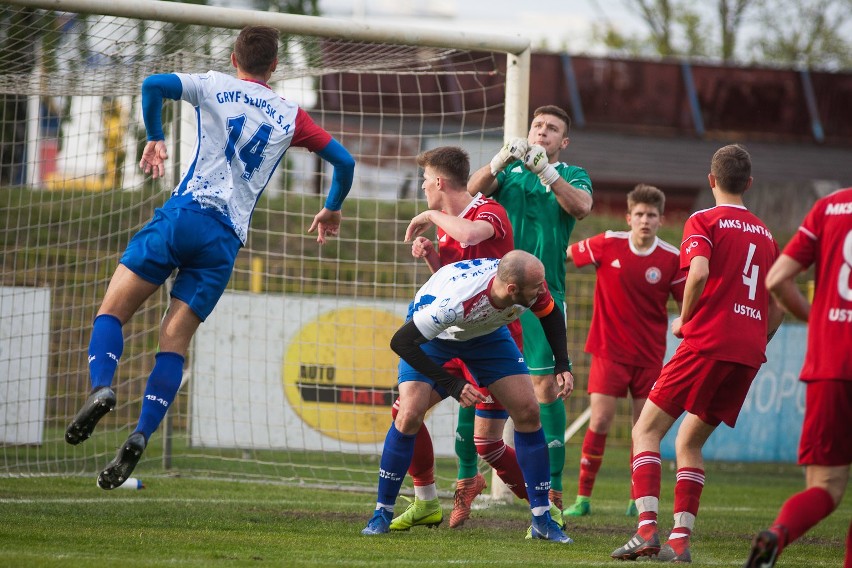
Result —
M467 192L470 163L461 148L446 146L420 154L417 163L423 168L423 191L429 207L414 217L405 232L412 241L411 253L423 258L432 272L460 260L502 258L514 248L512 226L502 205L482 195ZM438 249L422 234L437 227ZM522 348L520 321L509 324L509 331ZM451 373L465 377L476 385L467 368L458 359L444 365ZM491 397L486 388L477 386L487 398L476 407L460 408L456 435L459 474L450 527L461 526L470 516L473 499L485 488L485 479L477 469L477 454L497 472L521 499L527 498L524 478L515 451L503 442L503 427L508 412ZM398 401L397 401L398 403ZM394 403L395 410L398 408ZM476 416L476 419L474 419ZM408 530L417 525L435 525L443 519L434 475L434 452L424 426L415 440L414 459L409 474L414 482L415 500L401 515L393 519L391 530ZM556 515L561 523L561 514Z

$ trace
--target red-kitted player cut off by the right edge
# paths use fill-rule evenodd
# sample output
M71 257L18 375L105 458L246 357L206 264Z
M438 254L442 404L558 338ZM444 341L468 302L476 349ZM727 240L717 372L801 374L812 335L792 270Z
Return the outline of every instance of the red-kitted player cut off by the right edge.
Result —
M796 276L815 265L813 305ZM766 277L778 302L808 322L808 348L800 378L807 385L799 463L806 489L790 497L769 530L752 543L747 568L769 568L785 546L831 514L843 499L852 464L852 188L816 202ZM846 534L852 568L852 524Z

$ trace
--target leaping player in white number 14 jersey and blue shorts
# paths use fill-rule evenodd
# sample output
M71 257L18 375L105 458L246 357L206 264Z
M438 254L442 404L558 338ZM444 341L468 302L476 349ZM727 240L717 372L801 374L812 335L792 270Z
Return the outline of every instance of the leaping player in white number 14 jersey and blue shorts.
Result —
M93 324L92 393L65 432L72 445L89 438L98 421L115 407L111 385L124 348L122 326L177 269L139 423L98 475L103 489L114 489L130 476L174 401L190 340L225 290L237 252L246 242L255 204L290 146L317 152L334 166L325 207L308 231L317 231L322 244L340 227L340 209L352 185L355 161L304 110L266 84L278 64L278 35L274 28L244 28L231 54L236 77L209 71L152 75L142 83L148 131L139 163L142 170L154 179L164 173L168 157L161 120L164 98L195 107L199 140L188 173L128 243Z

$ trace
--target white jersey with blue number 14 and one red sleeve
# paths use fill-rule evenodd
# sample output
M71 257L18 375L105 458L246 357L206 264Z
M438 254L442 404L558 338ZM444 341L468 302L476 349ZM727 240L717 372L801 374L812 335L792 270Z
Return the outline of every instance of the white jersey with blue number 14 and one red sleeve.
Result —
M296 103L261 83L216 71L176 75L181 99L195 107L198 140L166 206L212 214L245 244L254 207L284 152L291 144L321 150L331 137Z

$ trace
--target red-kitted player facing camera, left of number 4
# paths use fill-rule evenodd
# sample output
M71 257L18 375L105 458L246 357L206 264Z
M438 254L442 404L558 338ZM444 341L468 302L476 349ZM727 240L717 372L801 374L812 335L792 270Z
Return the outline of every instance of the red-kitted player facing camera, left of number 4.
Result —
M566 515L591 512L592 488L617 399L625 398L629 389L635 424L663 366L669 325L666 304L670 295L680 304L686 280L678 248L657 237L665 203L662 191L639 184L627 194L630 231L607 231L568 247L568 258L576 266L595 266L597 281L586 341L586 352L593 355L591 417L583 438L577 500ZM628 514L635 515L635 509L631 499Z

